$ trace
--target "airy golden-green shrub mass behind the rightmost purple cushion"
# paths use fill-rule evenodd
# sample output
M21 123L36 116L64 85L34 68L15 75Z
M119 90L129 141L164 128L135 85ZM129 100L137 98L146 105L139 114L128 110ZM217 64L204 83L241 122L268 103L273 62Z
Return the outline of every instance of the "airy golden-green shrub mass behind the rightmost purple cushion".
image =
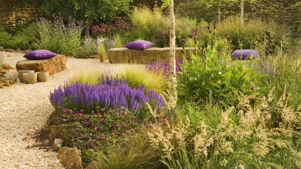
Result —
M252 41L257 47L260 42L267 39L269 44L267 53L274 51L276 46L281 46L283 36L290 37L290 33L287 26L275 22L266 23L259 18L250 18L241 25L238 16L228 17L216 26L217 37L227 35L234 49L240 49L240 43L243 44L243 48L251 48Z

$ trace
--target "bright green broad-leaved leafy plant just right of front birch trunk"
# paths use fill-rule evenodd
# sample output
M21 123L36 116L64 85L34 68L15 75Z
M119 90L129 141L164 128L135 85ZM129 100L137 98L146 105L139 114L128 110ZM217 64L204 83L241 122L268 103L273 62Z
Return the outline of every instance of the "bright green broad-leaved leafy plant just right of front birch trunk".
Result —
M222 102L233 104L232 91L250 95L257 89L257 80L260 68L253 69L253 59L248 63L248 68L243 62L231 63L229 54L220 56L216 45L208 45L205 55L191 54L191 63L183 58L182 73L177 79L178 101L183 102Z

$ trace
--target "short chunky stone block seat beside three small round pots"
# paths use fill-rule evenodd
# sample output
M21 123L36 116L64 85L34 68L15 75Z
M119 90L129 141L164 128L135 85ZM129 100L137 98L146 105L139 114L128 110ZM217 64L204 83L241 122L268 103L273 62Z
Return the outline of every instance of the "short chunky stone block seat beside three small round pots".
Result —
M53 75L57 72L61 72L66 68L67 58L65 55L57 55L51 59L43 60L21 60L17 62L16 69L19 70L34 70L35 72L49 72L49 75Z

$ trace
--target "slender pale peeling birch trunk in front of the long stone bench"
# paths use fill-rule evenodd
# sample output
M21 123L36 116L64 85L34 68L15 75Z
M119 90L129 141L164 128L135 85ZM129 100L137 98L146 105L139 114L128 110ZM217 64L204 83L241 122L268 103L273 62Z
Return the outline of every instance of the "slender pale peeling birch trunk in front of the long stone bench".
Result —
M171 89L173 90L173 95L175 98L177 97L177 92L175 90L175 16L173 13L173 0L170 0L169 4L169 19L170 19L170 53L169 53L169 65L170 65L170 78L171 81Z

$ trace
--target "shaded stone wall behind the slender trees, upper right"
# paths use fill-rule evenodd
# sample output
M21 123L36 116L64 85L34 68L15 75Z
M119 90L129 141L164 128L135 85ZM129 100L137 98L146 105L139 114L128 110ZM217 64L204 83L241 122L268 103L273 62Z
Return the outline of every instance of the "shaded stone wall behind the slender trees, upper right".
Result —
M207 21L213 21L216 20L217 16L215 15L208 15L208 11L205 11L204 8L200 6L194 5L194 0L175 0L175 12L178 12L181 15L186 15L189 17L196 17L197 20L200 20L201 18L207 20ZM255 11L250 8L250 6L245 5L244 11L246 13L250 13L251 16L260 17L264 20L270 20L270 21L276 21L282 24L286 24L288 26L291 26L292 29L296 29L298 26L300 26L300 16L297 16L297 9L291 8L290 5L294 5L296 3L296 0L268 0L268 2L272 3L279 3L279 7L277 8L278 12L275 12L275 14L272 14L271 12L259 12ZM158 6L161 6L162 2L161 0L154 1L154 0L134 0L133 5L137 4L145 4L153 7L155 4ZM186 5L184 5L186 4ZM269 3L262 3L260 5L260 8L263 9L269 9ZM240 6L233 5L228 10L231 10L234 12L234 14L240 14Z

